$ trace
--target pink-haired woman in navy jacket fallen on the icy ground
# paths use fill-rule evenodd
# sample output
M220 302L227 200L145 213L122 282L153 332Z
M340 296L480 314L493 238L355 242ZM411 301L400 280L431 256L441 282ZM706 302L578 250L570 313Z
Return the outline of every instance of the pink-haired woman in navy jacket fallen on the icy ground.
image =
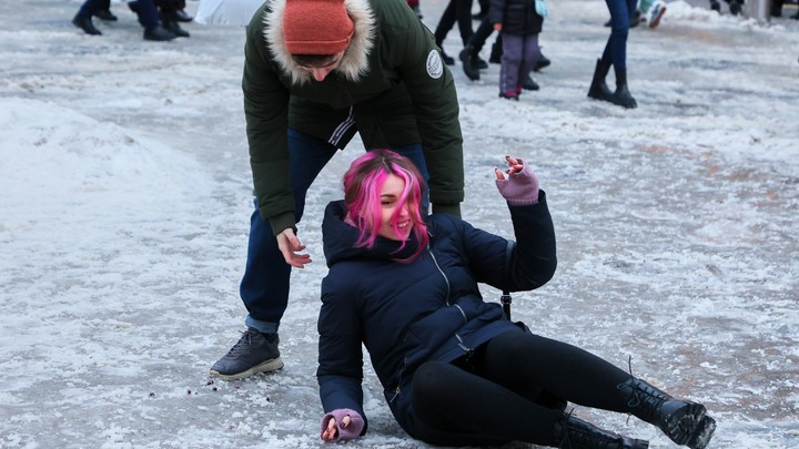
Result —
M394 152L365 153L344 175L344 201L327 206L323 223L322 439L366 432L363 344L400 426L431 445L648 446L566 412L572 401L633 414L678 445L705 448L716 424L702 405L535 335L483 300L478 283L530 290L556 266L546 195L522 160L506 160L507 178L495 169L496 184L516 243L453 215L424 216L423 178Z

